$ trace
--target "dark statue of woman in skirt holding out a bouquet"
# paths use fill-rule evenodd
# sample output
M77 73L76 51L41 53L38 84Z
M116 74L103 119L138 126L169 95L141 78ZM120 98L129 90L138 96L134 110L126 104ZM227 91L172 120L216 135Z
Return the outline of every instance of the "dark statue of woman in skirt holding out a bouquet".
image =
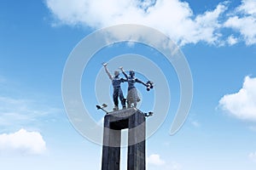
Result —
M147 90L149 91L150 88L153 88L153 82L148 81L147 83L142 82L141 80L137 79L135 77L134 71L129 71L129 77L126 75L123 67L119 67L119 69L122 71L122 73L125 76L125 82L128 82L128 94L127 94L127 107L131 108L131 104L133 104L134 107L137 107L137 102L139 102L141 99L139 98L137 94L137 88L135 87L135 83L141 83L144 86L147 87Z

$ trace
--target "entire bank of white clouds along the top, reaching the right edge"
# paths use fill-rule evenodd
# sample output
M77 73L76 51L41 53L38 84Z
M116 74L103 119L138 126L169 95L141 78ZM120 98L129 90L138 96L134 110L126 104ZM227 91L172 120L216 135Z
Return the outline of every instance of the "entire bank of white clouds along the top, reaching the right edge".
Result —
M179 0L46 0L46 5L55 23L68 26L140 24L164 32L179 45L256 43L254 0L242 0L232 11L224 1L202 14L194 14L189 3ZM223 31L227 28L230 31Z

